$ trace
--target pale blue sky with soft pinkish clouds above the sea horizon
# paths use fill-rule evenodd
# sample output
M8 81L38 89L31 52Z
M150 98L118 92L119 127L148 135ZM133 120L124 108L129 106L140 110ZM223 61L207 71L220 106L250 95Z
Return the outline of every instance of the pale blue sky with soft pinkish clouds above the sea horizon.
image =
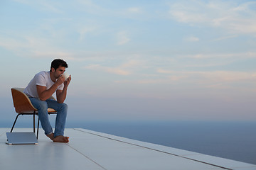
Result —
M55 58L70 122L256 119L256 1L1 1L0 54L0 122Z

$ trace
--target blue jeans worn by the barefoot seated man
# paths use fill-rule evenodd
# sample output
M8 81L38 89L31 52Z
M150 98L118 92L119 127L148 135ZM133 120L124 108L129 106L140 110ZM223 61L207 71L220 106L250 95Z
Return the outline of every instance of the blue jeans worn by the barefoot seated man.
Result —
M65 103L58 103L53 99L48 99L46 101L41 101L39 98L29 98L33 106L38 110L38 117L41 121L41 125L46 135L53 133L53 128L50 125L48 117L48 108L53 108L57 111L57 116L55 120L55 131L54 137L64 135L65 120L68 113L68 105Z

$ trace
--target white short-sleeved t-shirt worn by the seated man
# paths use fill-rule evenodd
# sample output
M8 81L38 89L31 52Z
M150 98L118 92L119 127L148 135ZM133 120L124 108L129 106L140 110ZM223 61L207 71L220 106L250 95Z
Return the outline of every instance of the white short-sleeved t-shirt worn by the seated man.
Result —
M39 72L33 77L33 79L29 82L26 89L23 91L28 97L39 98L38 92L36 90L36 85L46 86L46 90L50 89L53 86L54 82L50 79L50 71L49 72ZM57 90L63 90L64 84L60 84Z

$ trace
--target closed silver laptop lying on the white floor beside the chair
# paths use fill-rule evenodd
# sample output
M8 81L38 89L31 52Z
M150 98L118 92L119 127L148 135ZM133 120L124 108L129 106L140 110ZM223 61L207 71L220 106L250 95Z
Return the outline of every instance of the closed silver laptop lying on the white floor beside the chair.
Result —
M38 144L34 132L6 132L8 145L16 144Z

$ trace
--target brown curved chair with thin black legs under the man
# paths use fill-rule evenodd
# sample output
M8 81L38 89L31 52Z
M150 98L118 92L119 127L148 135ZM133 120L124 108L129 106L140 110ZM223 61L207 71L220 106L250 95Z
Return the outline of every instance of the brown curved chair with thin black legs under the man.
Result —
M30 99L26 94L23 93L24 88L11 88L11 95L14 101L14 108L18 115L14 120L14 125L19 115L33 115L33 132L36 133L35 128L35 115L38 115L38 110L33 107ZM54 99L53 96L50 98ZM56 114L57 112L53 108L48 108L48 114ZM11 132L14 130L14 125L11 128ZM38 139L38 129L39 129L39 118L38 118L38 128L36 138Z

